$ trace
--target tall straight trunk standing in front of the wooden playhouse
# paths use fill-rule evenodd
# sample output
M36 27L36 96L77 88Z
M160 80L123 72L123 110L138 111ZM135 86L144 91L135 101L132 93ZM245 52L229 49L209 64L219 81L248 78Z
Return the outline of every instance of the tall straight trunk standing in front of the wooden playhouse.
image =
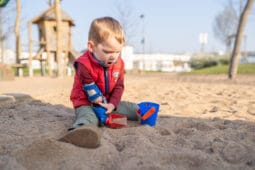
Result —
M62 57L62 41L61 41L61 11L60 11L60 2L55 0L55 15L56 15L56 26L57 26L57 76L63 77L63 57Z

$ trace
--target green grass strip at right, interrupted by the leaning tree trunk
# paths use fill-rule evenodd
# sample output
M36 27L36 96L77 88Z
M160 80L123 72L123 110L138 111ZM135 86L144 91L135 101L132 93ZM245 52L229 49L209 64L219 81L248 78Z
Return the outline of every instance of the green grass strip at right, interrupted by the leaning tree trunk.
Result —
M227 74L228 65L220 65L214 67L207 67L204 69L193 70L188 74ZM254 74L255 64L240 64L238 66L238 74Z

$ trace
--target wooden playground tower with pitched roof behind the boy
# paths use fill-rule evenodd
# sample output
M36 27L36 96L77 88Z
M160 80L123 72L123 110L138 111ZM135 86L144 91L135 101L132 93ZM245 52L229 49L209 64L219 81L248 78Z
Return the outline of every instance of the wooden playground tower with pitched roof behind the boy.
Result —
M33 76L32 61L38 60L41 66L41 75L46 75L46 69L48 75L53 76L54 71L59 66L63 67L63 74L67 74L67 66L72 65L75 58L79 56L79 53L72 48L71 42L71 29L75 25L73 19L61 11L61 59L57 59L57 22L54 5L42 12L37 17L31 19L28 23L29 30L29 58L28 60L29 76ZM38 26L39 34L39 50L33 55L33 40L32 40L32 24ZM23 65L21 65L22 67Z

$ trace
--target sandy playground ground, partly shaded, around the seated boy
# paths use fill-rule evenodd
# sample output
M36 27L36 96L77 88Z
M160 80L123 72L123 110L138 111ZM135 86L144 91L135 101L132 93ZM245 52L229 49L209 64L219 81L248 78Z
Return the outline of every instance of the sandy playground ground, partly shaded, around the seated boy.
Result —
M157 124L104 127L96 149L58 140L74 120L72 82L0 82L1 170L255 169L255 76L127 74L123 100L159 103Z

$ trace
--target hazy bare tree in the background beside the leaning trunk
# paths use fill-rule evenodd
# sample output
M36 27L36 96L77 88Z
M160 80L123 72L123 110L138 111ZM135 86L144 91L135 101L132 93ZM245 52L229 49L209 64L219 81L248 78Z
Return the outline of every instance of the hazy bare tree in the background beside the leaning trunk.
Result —
M238 11L232 1L225 6L216 17L213 25L215 36L226 45L226 53L230 54L232 40L235 37L238 25Z

